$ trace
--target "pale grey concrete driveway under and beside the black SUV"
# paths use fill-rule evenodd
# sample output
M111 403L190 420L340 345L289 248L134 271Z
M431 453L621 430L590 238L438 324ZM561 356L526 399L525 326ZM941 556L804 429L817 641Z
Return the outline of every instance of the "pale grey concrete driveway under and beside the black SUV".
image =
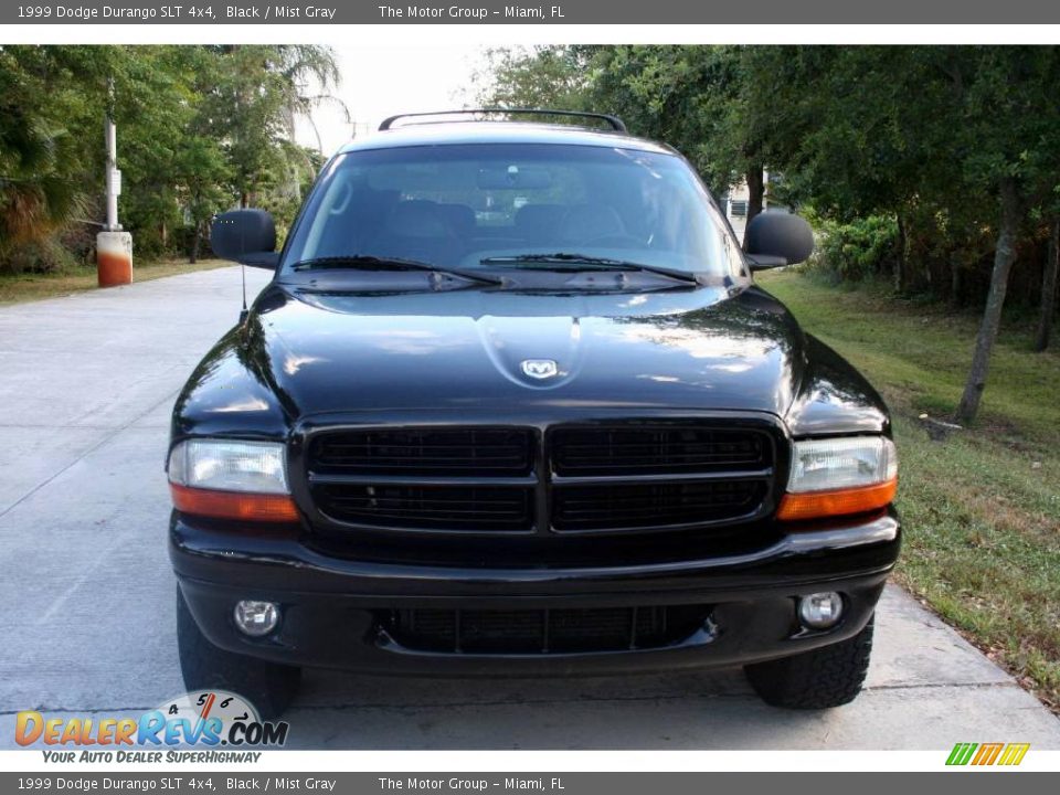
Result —
M252 292L268 274L247 271ZM182 691L162 475L170 407L236 320L224 268L0 308L0 748L14 713L135 713ZM762 704L739 671L574 681L310 671L303 748L1060 749L1060 721L891 587L867 691Z

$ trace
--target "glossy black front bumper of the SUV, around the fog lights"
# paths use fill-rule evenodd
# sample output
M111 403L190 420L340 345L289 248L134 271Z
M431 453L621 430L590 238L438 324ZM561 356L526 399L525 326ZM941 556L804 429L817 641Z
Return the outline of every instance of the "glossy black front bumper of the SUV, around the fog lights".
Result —
M377 674L532 676L725 667L784 657L859 632L898 556L893 512L801 529L751 553L680 563L577 569L414 566L338 559L284 534L243 534L174 513L170 556L199 627L231 651ZM802 629L796 597L838 591L844 617ZM250 638L239 600L282 605L278 628ZM590 610L702 605L696 632L665 646L560 654L426 651L395 639L384 616L426 610Z

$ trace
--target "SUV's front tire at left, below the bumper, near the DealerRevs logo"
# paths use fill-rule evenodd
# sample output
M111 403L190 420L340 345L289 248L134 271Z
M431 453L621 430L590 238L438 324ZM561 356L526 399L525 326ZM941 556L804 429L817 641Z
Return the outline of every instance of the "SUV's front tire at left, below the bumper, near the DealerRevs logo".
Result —
M262 720L283 714L298 692L301 668L255 659L214 646L202 634L177 586L177 647L184 687L229 690L257 708Z

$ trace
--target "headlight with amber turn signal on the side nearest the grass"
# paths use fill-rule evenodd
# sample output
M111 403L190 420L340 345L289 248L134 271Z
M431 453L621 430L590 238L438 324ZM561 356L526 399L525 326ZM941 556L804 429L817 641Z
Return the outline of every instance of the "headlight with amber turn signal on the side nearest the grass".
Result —
M796 442L777 518L815 519L883 508L898 489L898 454L883 436Z

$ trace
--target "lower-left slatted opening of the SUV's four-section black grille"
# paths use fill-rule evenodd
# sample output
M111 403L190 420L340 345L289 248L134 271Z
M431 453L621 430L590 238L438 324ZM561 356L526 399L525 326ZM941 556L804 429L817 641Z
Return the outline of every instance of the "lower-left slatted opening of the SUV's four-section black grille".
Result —
M325 484L314 495L332 519L371 527L519 532L533 523L529 488Z

